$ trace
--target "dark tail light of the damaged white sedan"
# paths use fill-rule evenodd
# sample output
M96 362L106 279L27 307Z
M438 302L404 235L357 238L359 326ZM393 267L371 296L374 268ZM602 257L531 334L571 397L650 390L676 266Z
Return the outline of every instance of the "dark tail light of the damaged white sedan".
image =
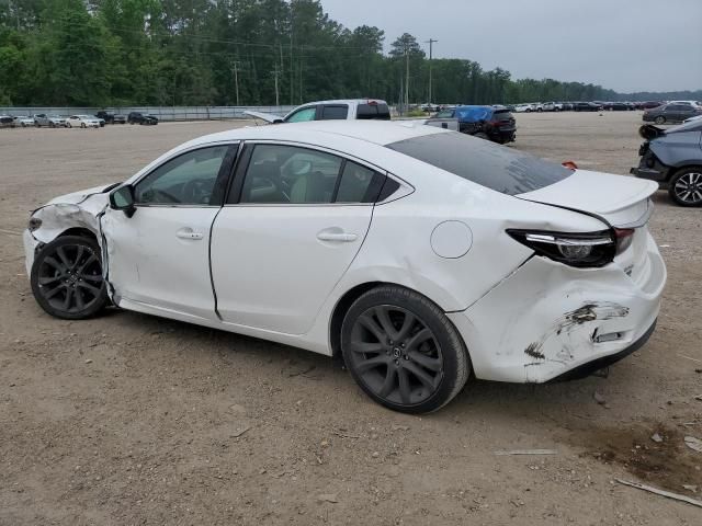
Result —
M616 254L616 239L609 230L587 233L507 230L507 233L539 255L570 266L604 266Z

